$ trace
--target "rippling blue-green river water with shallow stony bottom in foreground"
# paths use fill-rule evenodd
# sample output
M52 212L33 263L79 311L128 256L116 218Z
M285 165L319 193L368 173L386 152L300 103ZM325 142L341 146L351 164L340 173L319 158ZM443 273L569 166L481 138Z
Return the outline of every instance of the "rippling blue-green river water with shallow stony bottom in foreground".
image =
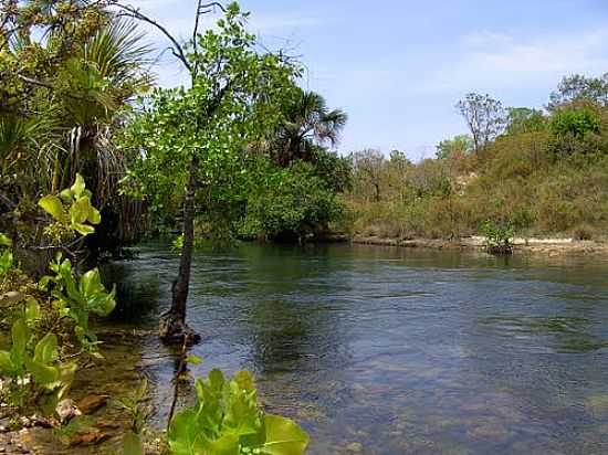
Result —
M117 316L155 327L178 256L114 263ZM608 262L332 245L198 252L195 374L253 371L311 454L608 453ZM138 347L170 402L172 352ZM165 411L164 411L165 410Z

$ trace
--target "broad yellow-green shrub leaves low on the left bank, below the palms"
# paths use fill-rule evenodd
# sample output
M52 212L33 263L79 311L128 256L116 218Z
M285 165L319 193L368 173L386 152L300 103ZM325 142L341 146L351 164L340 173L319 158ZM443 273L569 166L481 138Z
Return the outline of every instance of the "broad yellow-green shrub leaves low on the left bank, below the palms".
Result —
M70 201L70 205L64 204L61 198ZM82 177L78 176L74 186L64 190L61 198L43 197L40 207L62 229L74 230L75 235L88 234L85 223L99 222L99 214L91 205L91 193L86 191ZM10 246L6 236L0 236L0 240ZM96 338L88 329L88 317L91 313L107 316L115 306L115 290L107 293L96 268L77 275L71 262L63 260L61 254L50 264L50 268L55 275L43 277L38 288L19 286L0 297L2 304L8 303L13 308L8 316L13 319L12 343L9 350L0 351L0 373L10 379L3 394L8 394L9 401L18 408L33 402L48 414L67 393L77 368L74 361L60 359L70 349L69 345L63 343L70 338L64 330L72 327L63 321L73 320L76 338L82 346L99 356L93 349ZM18 286L19 282L13 285Z

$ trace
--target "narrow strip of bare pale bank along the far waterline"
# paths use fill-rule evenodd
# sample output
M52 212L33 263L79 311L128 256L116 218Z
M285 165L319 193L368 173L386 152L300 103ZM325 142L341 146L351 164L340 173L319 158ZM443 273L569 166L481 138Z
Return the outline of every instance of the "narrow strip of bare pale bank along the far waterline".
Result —
M409 248L469 250L482 251L485 239L482 236L459 240L442 239L385 239L378 236L355 235L352 242L361 245L399 246ZM566 254L606 254L608 244L599 241L578 241L574 239L515 239L516 253L547 254L549 256Z

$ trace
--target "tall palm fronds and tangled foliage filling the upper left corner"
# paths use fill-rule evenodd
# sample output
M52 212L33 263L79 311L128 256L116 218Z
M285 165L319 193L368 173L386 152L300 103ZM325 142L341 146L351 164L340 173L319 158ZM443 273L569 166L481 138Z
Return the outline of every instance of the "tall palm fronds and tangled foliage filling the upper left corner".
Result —
M18 234L17 250L30 246L28 234L39 224L22 205L56 193L76 173L87 179L105 219L117 220L97 234L116 242L135 235L129 226L138 212L116 186L128 157L112 134L129 100L151 83L149 49L107 3L0 3L0 193L15 213L4 229Z

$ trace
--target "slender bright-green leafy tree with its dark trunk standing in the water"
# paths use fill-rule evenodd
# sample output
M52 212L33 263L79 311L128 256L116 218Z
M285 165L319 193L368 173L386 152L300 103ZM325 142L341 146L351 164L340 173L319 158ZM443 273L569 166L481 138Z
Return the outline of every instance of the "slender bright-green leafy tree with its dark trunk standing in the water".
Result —
M198 11L197 18L207 10L199 3ZM283 96L293 87L295 68L281 55L256 51L255 36L244 27L247 17L231 3L217 30L205 34L198 33L197 19L192 41L186 50L174 50L190 72L190 88L155 89L125 136L125 144L140 150L127 191L163 203L184 189L179 273L170 309L160 321L166 341L197 338L186 324L197 205L213 221L214 208L234 202L247 182L242 150L275 127Z

